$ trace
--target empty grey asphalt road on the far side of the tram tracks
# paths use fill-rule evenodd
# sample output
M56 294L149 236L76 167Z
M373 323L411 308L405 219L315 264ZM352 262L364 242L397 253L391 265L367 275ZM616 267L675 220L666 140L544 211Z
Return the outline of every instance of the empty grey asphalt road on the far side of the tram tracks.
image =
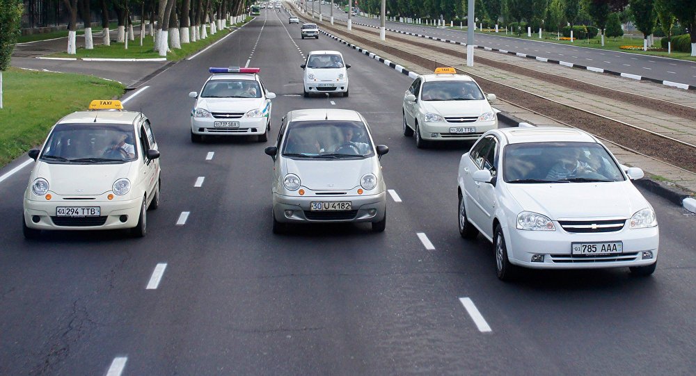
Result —
M308 10L311 10L311 6L312 3L310 2L308 5ZM331 6L322 6L322 14L324 17L328 17L330 12ZM318 1L315 4L315 14L317 14L318 17ZM348 19L347 13L335 8L333 11L333 17L334 19ZM353 16L352 20L354 23L368 24L372 26L380 25L379 19L361 17L358 15ZM395 30L406 31L409 33L429 35L447 40L456 40L457 42L466 42L466 32L447 28L402 24L400 22L386 22L386 28L393 28ZM505 35L504 30L501 31L501 33ZM534 31L532 31L532 36L533 35L535 35ZM640 54L629 54L617 51L603 51L600 49L591 49L586 47L574 47L567 44L523 40L481 33L475 33L474 42L479 46L490 47L493 49L519 52L521 54L527 54L530 56L602 68L603 70L610 70L613 72L646 76L650 77L651 79L696 85L696 62L693 61L661 58L658 56L644 56ZM642 39L626 39L626 44L642 46L643 42Z

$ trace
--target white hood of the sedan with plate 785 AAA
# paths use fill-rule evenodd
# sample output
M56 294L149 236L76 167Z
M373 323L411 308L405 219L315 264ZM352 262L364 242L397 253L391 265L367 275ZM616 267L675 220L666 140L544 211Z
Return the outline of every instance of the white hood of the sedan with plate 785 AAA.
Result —
M631 218L649 207L630 181L610 183L506 184L522 210L548 215L551 220L570 218Z

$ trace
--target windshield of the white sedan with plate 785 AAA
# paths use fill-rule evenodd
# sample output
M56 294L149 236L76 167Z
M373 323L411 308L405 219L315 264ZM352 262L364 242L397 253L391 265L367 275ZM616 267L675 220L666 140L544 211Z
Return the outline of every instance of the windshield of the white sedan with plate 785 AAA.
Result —
M595 142L529 142L507 145L503 153L507 183L586 183L623 181L607 150Z

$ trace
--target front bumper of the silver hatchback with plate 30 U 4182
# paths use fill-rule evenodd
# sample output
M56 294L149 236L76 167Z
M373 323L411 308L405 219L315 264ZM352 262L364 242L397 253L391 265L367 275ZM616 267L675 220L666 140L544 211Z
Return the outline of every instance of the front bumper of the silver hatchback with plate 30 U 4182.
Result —
M351 202L351 211L310 211L312 202ZM377 195L285 196L273 194L278 222L379 222L386 213L386 192Z

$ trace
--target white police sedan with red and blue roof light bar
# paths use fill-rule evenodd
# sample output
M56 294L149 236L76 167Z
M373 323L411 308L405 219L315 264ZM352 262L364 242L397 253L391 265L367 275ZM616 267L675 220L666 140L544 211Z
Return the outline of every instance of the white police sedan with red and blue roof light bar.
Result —
M258 136L268 140L271 99L260 68L211 67L203 88L189 92L196 99L191 109L191 142L203 136Z

